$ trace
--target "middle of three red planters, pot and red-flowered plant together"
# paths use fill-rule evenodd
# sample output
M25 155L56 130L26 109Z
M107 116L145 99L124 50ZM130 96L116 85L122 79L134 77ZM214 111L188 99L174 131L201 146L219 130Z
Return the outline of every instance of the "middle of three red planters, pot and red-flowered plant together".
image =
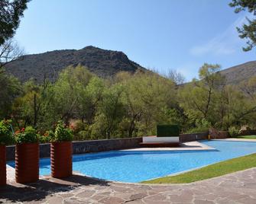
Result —
M33 183L39 179L39 143L31 126L15 132L15 179L17 183Z

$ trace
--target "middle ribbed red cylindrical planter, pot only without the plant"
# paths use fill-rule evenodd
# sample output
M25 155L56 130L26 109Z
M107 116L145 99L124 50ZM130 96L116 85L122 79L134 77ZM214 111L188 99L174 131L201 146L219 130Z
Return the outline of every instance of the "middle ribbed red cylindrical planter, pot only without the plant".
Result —
M17 183L33 183L39 179L39 144L17 144L15 150Z

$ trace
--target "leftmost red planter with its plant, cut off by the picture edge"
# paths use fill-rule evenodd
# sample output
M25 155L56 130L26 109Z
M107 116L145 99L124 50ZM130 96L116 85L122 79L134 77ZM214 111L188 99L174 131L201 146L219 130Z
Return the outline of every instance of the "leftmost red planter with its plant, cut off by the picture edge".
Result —
M6 151L5 145L14 143L11 129L11 120L0 122L0 186L6 184Z

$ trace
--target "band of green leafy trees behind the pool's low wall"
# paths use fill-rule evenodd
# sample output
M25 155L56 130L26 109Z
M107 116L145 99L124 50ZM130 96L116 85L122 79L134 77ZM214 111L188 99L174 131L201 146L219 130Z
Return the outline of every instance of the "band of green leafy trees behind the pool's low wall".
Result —
M0 78L0 118L41 135L59 120L74 126L75 139L153 135L157 124L167 123L183 132L255 126L256 78L227 85L219 65L204 64L199 80L183 85L153 72L102 79L81 65L67 67L54 83L22 84L5 72Z

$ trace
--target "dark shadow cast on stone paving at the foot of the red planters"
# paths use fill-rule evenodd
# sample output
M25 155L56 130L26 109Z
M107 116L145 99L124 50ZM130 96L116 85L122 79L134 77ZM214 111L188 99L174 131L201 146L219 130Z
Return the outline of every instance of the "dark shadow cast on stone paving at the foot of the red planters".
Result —
M0 187L0 203L40 201L50 196L50 194L67 192L81 185L109 186L109 183L81 175L73 175L63 180L45 177L38 180L37 183L27 183L25 185L13 182Z

